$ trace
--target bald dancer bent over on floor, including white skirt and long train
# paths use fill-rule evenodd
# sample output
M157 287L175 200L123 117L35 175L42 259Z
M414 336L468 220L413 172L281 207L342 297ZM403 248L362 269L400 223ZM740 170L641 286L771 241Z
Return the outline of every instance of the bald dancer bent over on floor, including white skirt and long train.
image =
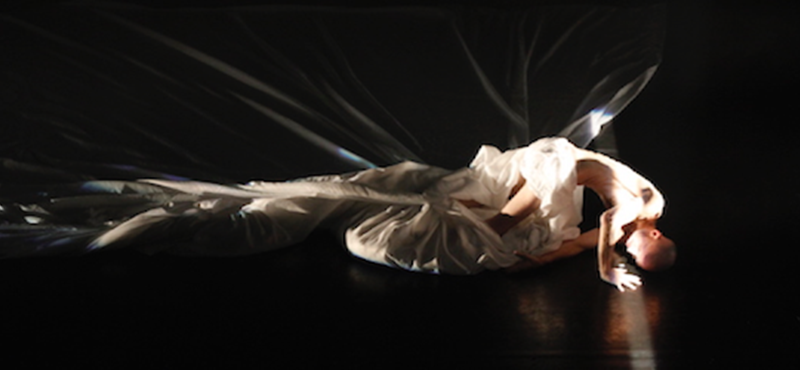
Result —
M598 229L581 234L584 186L607 210ZM625 290L641 280L616 244L646 270L675 260L674 243L656 229L664 205L655 186L622 163L543 138L505 152L483 146L456 171L403 162L289 182L142 179L0 189L0 254L130 247L240 256L329 228L355 256L428 273L520 271L596 246L600 277Z

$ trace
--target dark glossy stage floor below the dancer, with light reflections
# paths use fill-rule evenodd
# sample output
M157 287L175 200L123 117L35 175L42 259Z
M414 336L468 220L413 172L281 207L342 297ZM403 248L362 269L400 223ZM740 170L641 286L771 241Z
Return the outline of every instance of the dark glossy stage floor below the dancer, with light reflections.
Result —
M428 276L356 261L328 234L250 258L6 261L3 335L26 365L104 368L797 364L791 297L765 292L785 288L687 263L620 294L594 263Z

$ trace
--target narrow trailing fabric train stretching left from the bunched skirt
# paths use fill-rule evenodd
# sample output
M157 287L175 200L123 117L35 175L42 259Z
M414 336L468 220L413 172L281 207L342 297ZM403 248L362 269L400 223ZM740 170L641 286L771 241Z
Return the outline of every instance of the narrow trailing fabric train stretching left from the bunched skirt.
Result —
M250 254L302 240L323 220L343 212L346 202L423 202L421 196L381 192L344 180L349 177L353 176L231 186L148 179L43 185L35 191L4 187L0 256L84 253L147 242L198 243L194 249L173 249L177 253ZM15 196L20 193L24 196Z

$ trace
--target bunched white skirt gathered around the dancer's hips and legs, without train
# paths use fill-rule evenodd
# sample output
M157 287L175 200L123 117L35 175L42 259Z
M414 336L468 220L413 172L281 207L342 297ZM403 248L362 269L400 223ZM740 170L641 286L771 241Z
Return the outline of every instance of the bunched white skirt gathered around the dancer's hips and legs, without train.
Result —
M403 166L384 169L404 178ZM540 209L501 239L486 223L508 201L522 176L542 199ZM580 234L582 187L577 186L574 146L541 139L501 152L483 146L470 168L454 172L423 192L418 206L389 206L352 222L345 243L356 256L401 268L456 274L508 267L513 252L540 255ZM486 207L468 209L455 199Z

